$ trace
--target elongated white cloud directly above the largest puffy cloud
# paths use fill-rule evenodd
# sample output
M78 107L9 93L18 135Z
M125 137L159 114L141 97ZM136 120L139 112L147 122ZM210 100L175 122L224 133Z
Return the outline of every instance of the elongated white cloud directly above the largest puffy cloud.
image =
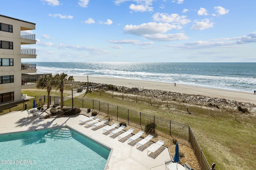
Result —
M182 24L185 25L190 23L190 20L186 19L187 16L179 16L178 14L166 14L166 13L156 13L153 15L154 21L159 22L168 22L168 23L175 23L175 24Z

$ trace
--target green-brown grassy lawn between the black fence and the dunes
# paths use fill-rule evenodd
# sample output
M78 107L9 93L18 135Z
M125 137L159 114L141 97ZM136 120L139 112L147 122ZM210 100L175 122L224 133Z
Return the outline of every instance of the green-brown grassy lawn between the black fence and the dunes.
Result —
M42 95L37 91L22 90L22 93ZM83 96L81 94L76 98ZM210 165L215 162L218 170L256 169L256 117L252 113L243 114L234 109L189 104L188 111L192 114L188 114L188 103L143 96L136 98L128 94L123 97L122 94L103 91L88 93L84 98L190 125Z

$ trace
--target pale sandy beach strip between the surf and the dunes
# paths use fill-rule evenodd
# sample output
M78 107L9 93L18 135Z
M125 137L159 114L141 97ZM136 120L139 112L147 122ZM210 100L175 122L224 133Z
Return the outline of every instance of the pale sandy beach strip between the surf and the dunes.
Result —
M75 81L87 82L87 76L74 76ZM89 82L101 83L101 84L112 84L115 86L125 86L128 88L137 87L140 89L151 89L151 90L165 90L170 92L177 92L182 94L193 94L208 96L212 98L223 98L226 100L234 100L238 102L245 102L256 104L256 95L254 92L239 92L232 90L223 90L216 88L204 88L198 86L187 86L184 84L156 82L147 80L133 80L127 78L107 78L107 77L95 77L88 76Z

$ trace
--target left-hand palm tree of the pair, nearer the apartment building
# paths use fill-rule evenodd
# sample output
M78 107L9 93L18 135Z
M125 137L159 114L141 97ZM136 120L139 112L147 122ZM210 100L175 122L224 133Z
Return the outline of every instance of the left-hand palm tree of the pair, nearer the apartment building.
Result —
M50 91L52 90L52 86L54 84L54 77L52 74L44 74L37 80L36 88L42 88L47 91L47 108L50 107Z

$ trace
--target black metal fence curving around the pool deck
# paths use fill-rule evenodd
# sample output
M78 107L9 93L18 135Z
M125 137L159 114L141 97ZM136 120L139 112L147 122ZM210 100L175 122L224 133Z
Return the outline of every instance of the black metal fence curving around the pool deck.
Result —
M0 114L22 110L25 109L25 106L28 108L32 107L33 100L35 100L37 104L41 104L42 102L47 103L47 98L48 96L35 96L34 98L19 101L22 102L19 104L18 102L6 102L0 104ZM72 106L72 98L63 98L63 101L63 106ZM58 104L59 102L60 98L58 96L50 96L51 105ZM124 119L128 122L139 124L141 127L145 127L148 123L155 123L158 131L189 141L201 170L211 170L202 149L188 125L93 99L73 98L73 107L96 109L116 117L117 121L118 119Z

